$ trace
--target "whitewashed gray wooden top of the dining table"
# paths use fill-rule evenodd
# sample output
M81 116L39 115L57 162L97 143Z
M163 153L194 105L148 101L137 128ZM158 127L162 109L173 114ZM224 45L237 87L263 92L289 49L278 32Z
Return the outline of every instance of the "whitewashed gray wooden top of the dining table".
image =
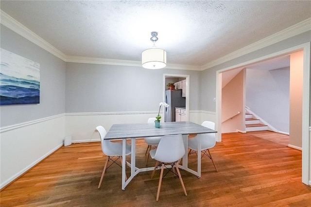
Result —
M190 121L161 122L160 128L155 123L113 124L105 139L161 137L164 135L188 135L216 133L216 131Z

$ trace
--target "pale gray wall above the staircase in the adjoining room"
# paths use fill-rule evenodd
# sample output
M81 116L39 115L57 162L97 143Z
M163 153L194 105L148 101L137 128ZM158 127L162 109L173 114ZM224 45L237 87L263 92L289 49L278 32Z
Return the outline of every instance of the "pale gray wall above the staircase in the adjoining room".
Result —
M246 70L246 105L278 131L289 133L290 69Z

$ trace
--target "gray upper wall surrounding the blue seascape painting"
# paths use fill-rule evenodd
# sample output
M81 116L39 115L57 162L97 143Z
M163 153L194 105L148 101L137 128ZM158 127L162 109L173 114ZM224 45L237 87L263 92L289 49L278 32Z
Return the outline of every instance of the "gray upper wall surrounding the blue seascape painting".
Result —
M65 62L0 26L1 48L40 64L40 104L1 105L0 127L65 113Z

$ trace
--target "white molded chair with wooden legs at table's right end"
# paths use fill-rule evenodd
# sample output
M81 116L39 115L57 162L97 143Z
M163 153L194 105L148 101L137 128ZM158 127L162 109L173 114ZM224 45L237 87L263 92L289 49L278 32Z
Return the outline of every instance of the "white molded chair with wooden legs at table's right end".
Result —
M209 129L215 130L215 123L212 121L203 121L202 126L205 126ZM215 133L208 133L208 134L198 134L196 135L194 138L190 138L188 140L188 148L189 153L188 156L195 153L197 155L197 149L198 149L198 142L201 139L201 152L203 153L203 155L201 156L201 158L204 155L207 155L207 157L209 157L212 160L212 163L215 167L216 172L218 172L215 162L209 152L209 149L214 147L216 144L216 139L215 139Z

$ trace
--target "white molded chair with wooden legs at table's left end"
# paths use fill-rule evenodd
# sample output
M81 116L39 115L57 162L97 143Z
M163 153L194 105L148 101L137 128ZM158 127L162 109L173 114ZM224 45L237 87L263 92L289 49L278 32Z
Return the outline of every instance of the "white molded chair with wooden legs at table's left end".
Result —
M100 137L101 137L101 144L102 144L102 151L103 153L107 156L106 158L106 162L104 165L104 170L101 176L101 180L99 181L99 185L98 188L101 187L103 178L104 178L104 174L105 171L107 170L107 168L109 168L113 163L116 163L117 165L119 165L116 161L120 158L121 160L121 165L119 165L120 167L122 167L122 143L120 142L112 142L108 139L105 139L105 136L107 134L106 130L104 129L103 126L97 126L96 130L99 132ZM131 154L131 145L126 144L126 153L125 155L130 155ZM112 159L113 157L117 156L117 159ZM108 162L112 161L112 163L107 167ZM126 175L125 175L125 179Z

